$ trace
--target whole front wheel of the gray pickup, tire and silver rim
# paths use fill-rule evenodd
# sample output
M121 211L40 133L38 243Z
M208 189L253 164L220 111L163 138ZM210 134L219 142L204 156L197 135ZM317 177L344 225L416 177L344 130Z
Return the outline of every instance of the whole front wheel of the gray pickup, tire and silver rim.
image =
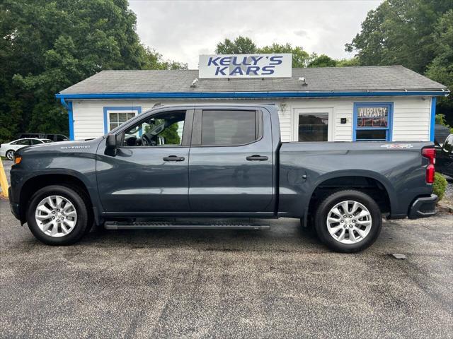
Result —
M45 244L74 244L88 227L83 194L67 186L46 186L30 199L27 222L33 235Z

